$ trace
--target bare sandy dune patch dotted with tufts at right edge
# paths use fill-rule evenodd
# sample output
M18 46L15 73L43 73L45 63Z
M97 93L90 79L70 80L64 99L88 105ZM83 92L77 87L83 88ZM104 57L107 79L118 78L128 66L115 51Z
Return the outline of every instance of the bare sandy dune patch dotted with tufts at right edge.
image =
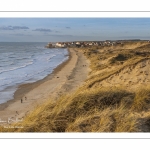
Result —
M127 87L129 90L137 90L150 82L150 59L143 60L136 65L125 67L119 73L100 82L103 87Z

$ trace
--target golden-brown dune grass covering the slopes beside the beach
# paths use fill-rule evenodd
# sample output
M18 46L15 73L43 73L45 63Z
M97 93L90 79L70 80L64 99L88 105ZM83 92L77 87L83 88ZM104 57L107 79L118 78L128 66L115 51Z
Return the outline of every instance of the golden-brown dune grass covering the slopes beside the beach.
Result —
M73 94L61 96L57 101L48 100L36 108L23 122L17 123L24 128L0 127L1 132L150 131L148 84L136 91L125 87L99 86L101 81L123 68L149 59L150 44L141 41L126 42L119 46L96 46L78 50L91 62L91 72L84 85Z

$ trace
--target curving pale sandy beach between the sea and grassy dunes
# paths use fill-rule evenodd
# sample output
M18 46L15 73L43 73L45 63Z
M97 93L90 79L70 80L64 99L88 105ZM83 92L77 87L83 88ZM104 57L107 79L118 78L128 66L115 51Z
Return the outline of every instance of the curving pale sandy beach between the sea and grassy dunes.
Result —
M0 105L0 118L22 118L46 100L73 92L82 85L88 71L86 57L75 49L69 49L69 59L55 68L52 74L35 83L19 86L14 99Z

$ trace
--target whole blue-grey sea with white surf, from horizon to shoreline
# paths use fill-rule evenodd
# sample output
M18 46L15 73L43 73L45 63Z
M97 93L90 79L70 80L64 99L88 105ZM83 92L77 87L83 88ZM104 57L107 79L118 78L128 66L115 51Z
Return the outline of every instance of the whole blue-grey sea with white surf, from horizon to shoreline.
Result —
M66 48L47 43L0 43L0 104L13 99L18 86L43 79L68 59Z

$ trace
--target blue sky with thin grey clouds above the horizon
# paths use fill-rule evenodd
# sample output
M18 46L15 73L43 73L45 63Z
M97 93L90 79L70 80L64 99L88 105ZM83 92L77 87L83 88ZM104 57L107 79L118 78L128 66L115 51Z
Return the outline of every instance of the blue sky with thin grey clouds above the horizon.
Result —
M0 18L0 42L150 40L150 18Z

